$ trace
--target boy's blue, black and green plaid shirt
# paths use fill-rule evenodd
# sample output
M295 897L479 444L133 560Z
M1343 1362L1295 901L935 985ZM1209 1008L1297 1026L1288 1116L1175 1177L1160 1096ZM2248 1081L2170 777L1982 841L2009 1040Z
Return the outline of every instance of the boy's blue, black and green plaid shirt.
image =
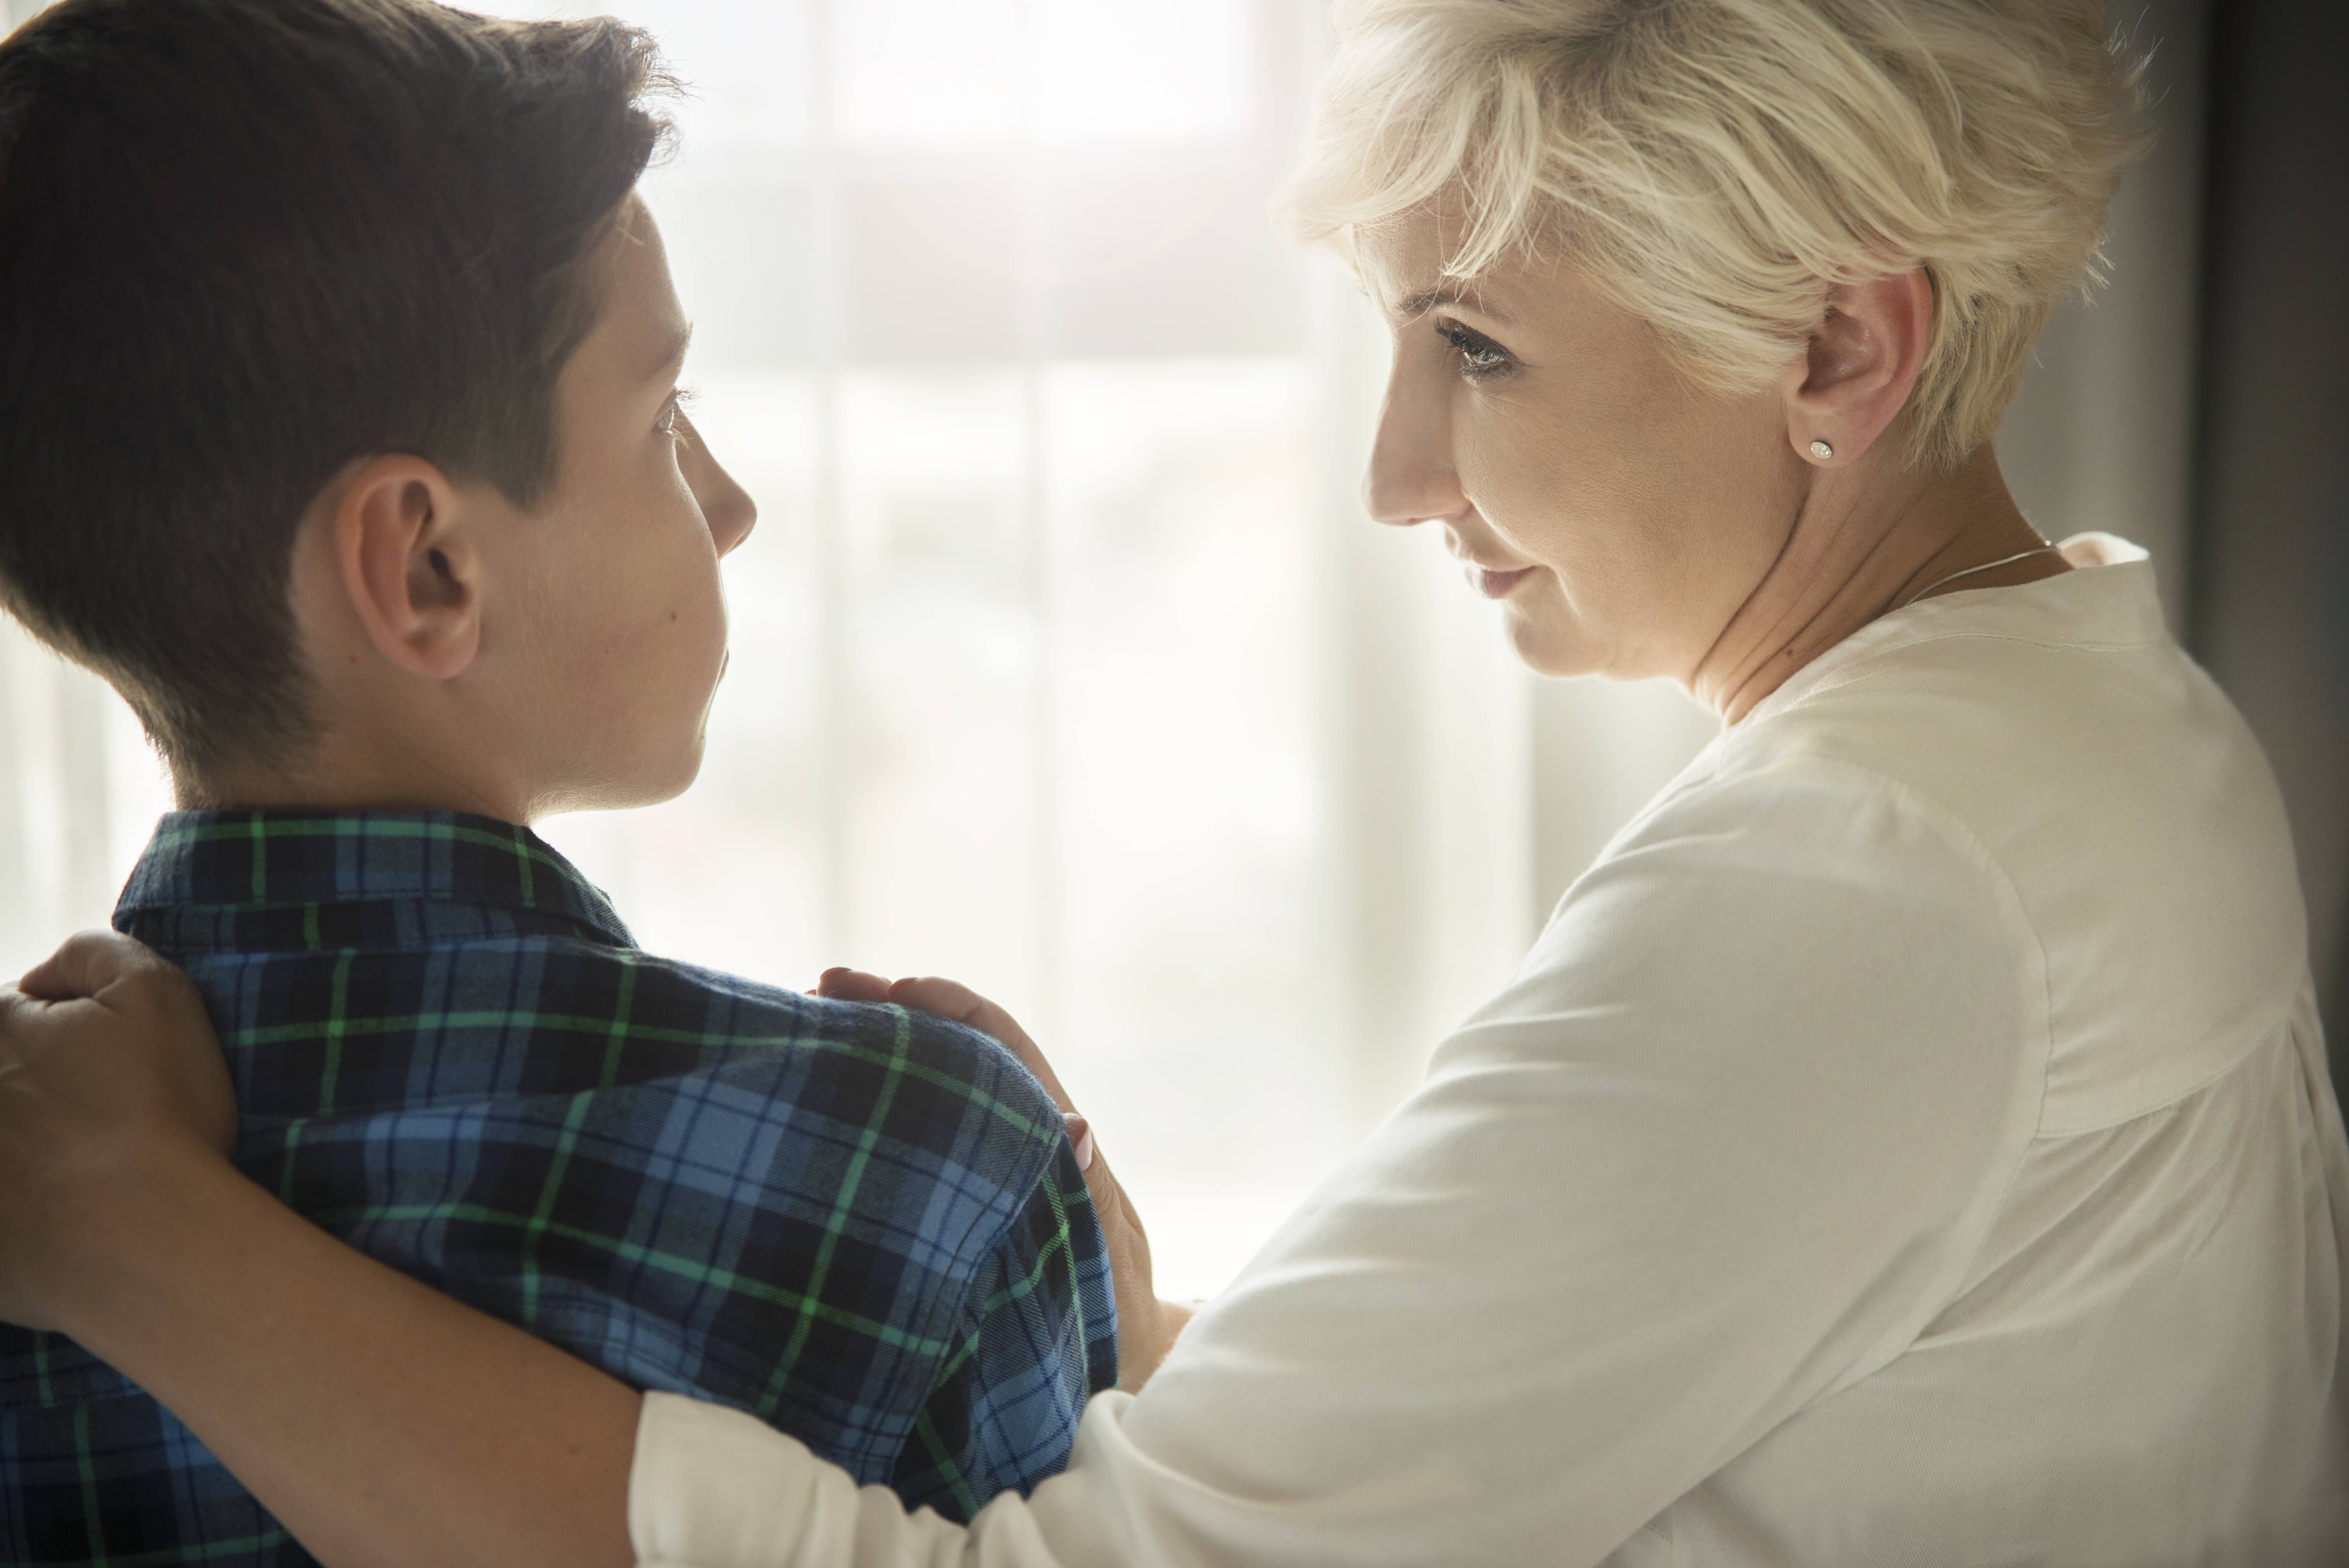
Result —
M115 925L204 993L247 1176L634 1387L968 1519L1116 1380L1085 1181L984 1035L651 958L484 817L176 812ZM134 1383L0 1329L0 1561L312 1559Z

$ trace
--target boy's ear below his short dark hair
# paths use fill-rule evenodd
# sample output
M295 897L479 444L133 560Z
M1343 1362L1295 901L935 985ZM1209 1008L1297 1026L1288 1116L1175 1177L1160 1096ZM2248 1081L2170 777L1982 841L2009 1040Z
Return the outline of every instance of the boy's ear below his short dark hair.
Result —
M479 552L463 500L423 458L369 458L334 509L334 561L369 641L392 664L449 681L482 648Z

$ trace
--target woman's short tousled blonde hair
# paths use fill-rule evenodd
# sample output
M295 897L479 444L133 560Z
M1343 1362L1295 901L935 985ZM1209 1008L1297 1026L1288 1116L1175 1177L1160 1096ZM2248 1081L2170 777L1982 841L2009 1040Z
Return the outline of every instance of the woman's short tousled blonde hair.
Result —
M1954 465L2098 272L2142 148L2100 0L1337 0L1292 232L1442 202L1452 277L1562 256L1708 385L1766 385L1837 282L1924 265L1914 455Z

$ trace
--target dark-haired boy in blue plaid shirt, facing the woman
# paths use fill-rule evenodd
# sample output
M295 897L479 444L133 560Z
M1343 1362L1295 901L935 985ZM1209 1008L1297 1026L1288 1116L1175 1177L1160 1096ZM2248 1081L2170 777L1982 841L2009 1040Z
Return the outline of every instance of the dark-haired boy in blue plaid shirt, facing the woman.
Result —
M66 0L0 47L0 594L171 765L115 925L237 1162L641 1385L968 1516L1116 1380L991 1040L655 960L531 819L695 775L749 498L677 406L651 42L425 0ZM357 1352L359 1347L355 1347ZM0 1561L310 1556L0 1331Z

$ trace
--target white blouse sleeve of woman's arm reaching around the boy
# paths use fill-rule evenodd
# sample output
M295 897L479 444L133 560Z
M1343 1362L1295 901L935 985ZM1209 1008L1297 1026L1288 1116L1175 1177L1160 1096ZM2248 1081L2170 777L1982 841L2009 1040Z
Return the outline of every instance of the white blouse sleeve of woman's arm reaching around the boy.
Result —
M662 1568L1642 1561L1642 1526L1954 1296L2037 1120L2004 876L1823 758L1651 807L1069 1472L965 1530L651 1397Z

